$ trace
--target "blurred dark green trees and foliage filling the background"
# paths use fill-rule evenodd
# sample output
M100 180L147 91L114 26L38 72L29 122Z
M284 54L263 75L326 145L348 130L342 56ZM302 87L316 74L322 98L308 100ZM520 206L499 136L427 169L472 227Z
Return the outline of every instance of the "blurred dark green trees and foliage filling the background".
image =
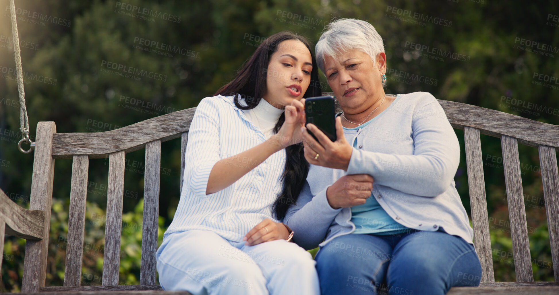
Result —
M7 5L0 0L0 188L28 208L33 158L16 149L21 135ZM556 2L21 0L16 6L32 136L38 121L55 121L58 132L103 132L196 106L230 81L267 36L291 30L316 43L337 17L367 20L383 37L387 93L428 91L438 99L559 124L559 84L544 85L544 79L559 77ZM144 8L148 13L140 13ZM324 77L320 82L330 91ZM456 132L463 150L462 130ZM178 140L162 149L160 235L178 204L181 156ZM520 145L519 151L528 224L534 229L529 233L534 279L553 280L546 264L551 261L546 214L538 201L543 192L537 149ZM499 139L482 135L482 152L490 220L508 221ZM141 223L144 152L126 158L124 222ZM465 163L462 154L455 180L469 212ZM105 210L106 164L90 160L86 242L93 249L103 245L104 225L96 218ZM47 285L63 282L71 166L70 160L56 160ZM490 223L496 280L515 280L510 228L501 223ZM123 231L122 284L139 280L139 235ZM21 285L24 245L6 238L7 291ZM101 265L102 251L85 252L82 284L100 284Z

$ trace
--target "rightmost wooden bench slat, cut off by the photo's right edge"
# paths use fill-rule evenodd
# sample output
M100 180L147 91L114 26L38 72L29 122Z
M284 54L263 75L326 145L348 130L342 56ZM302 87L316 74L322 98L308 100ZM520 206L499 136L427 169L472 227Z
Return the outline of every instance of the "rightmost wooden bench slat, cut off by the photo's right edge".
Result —
M559 282L559 176L555 148L539 146L539 166L542 172L543 196L546 202L547 227L555 282Z

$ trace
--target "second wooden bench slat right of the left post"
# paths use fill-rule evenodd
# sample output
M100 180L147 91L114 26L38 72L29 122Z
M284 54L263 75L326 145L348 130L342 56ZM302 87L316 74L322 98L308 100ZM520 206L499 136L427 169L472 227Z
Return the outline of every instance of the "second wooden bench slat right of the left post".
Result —
M111 153L108 160L107 222L103 285L119 284L122 196L124 194L124 151Z

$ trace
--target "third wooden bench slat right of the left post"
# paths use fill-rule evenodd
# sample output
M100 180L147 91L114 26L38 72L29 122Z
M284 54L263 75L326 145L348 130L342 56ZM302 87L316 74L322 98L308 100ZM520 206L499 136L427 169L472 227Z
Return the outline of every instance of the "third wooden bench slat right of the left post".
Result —
M161 142L145 144L144 219L141 236L140 285L155 284L155 252L159 217L159 177L161 167Z

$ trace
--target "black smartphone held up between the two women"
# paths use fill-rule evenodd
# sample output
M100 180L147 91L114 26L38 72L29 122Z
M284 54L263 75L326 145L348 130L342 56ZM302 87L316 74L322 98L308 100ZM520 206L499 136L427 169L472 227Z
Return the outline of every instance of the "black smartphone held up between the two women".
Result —
M305 116L305 126L309 123L315 124L331 141L336 141L334 96L309 97L305 99ZM312 132L309 131L309 133L316 139Z

